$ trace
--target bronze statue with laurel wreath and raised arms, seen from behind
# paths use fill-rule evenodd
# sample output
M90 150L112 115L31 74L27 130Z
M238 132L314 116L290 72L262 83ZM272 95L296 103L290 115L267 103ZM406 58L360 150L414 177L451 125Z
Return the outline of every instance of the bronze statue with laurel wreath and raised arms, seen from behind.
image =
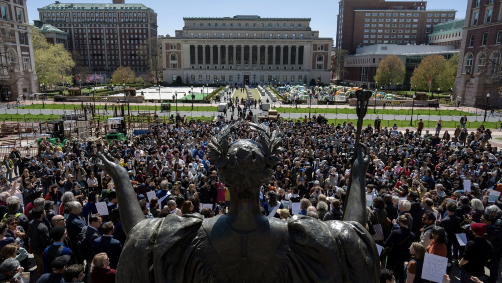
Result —
M295 215L285 222L265 217L259 201L275 154L283 151L281 140L268 126L249 126L261 144L228 144L238 127L233 123L211 139L211 161L231 194L228 214L205 220L199 214L145 219L126 170L109 154L99 155L98 166L115 182L128 235L116 282L379 282L378 251L364 229L368 148L357 146L343 221Z

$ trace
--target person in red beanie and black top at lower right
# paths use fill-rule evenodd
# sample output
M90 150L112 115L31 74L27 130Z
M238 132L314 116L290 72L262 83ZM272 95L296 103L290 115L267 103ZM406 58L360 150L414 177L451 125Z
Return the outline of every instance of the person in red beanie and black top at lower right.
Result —
M479 280L484 278L484 265L491 259L493 246L485 238L486 224L473 223L470 225L474 239L465 245L464 254L458 266L460 266L460 283L471 282L471 277L476 276Z

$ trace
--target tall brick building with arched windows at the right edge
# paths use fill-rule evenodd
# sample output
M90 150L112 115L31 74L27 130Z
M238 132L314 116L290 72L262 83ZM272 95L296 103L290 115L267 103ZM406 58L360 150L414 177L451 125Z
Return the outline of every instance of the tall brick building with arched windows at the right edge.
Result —
M499 107L502 96L502 3L468 0L454 97L467 106Z

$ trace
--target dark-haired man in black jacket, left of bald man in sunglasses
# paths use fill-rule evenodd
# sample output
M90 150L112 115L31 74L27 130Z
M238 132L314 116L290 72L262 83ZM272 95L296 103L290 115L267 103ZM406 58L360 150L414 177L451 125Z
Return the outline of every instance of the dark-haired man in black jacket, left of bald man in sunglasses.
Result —
M51 244L49 239L49 228L44 224L42 219L45 216L43 206L36 207L32 210L33 217L35 218L30 222L28 227L28 235L30 236L31 249L33 256L37 261L38 276L42 276L44 272L44 251Z

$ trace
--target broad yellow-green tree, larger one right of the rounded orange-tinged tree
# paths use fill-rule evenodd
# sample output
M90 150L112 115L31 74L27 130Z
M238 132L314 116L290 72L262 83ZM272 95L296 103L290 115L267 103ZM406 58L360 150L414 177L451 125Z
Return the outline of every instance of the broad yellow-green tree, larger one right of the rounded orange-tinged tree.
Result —
M454 64L454 60L451 61L451 65ZM456 64L458 66L458 61ZM448 80L451 71L452 68L444 56L437 54L427 56L413 71L413 84L422 90L428 90L429 86L432 91L438 88L449 90L453 87L453 83Z

